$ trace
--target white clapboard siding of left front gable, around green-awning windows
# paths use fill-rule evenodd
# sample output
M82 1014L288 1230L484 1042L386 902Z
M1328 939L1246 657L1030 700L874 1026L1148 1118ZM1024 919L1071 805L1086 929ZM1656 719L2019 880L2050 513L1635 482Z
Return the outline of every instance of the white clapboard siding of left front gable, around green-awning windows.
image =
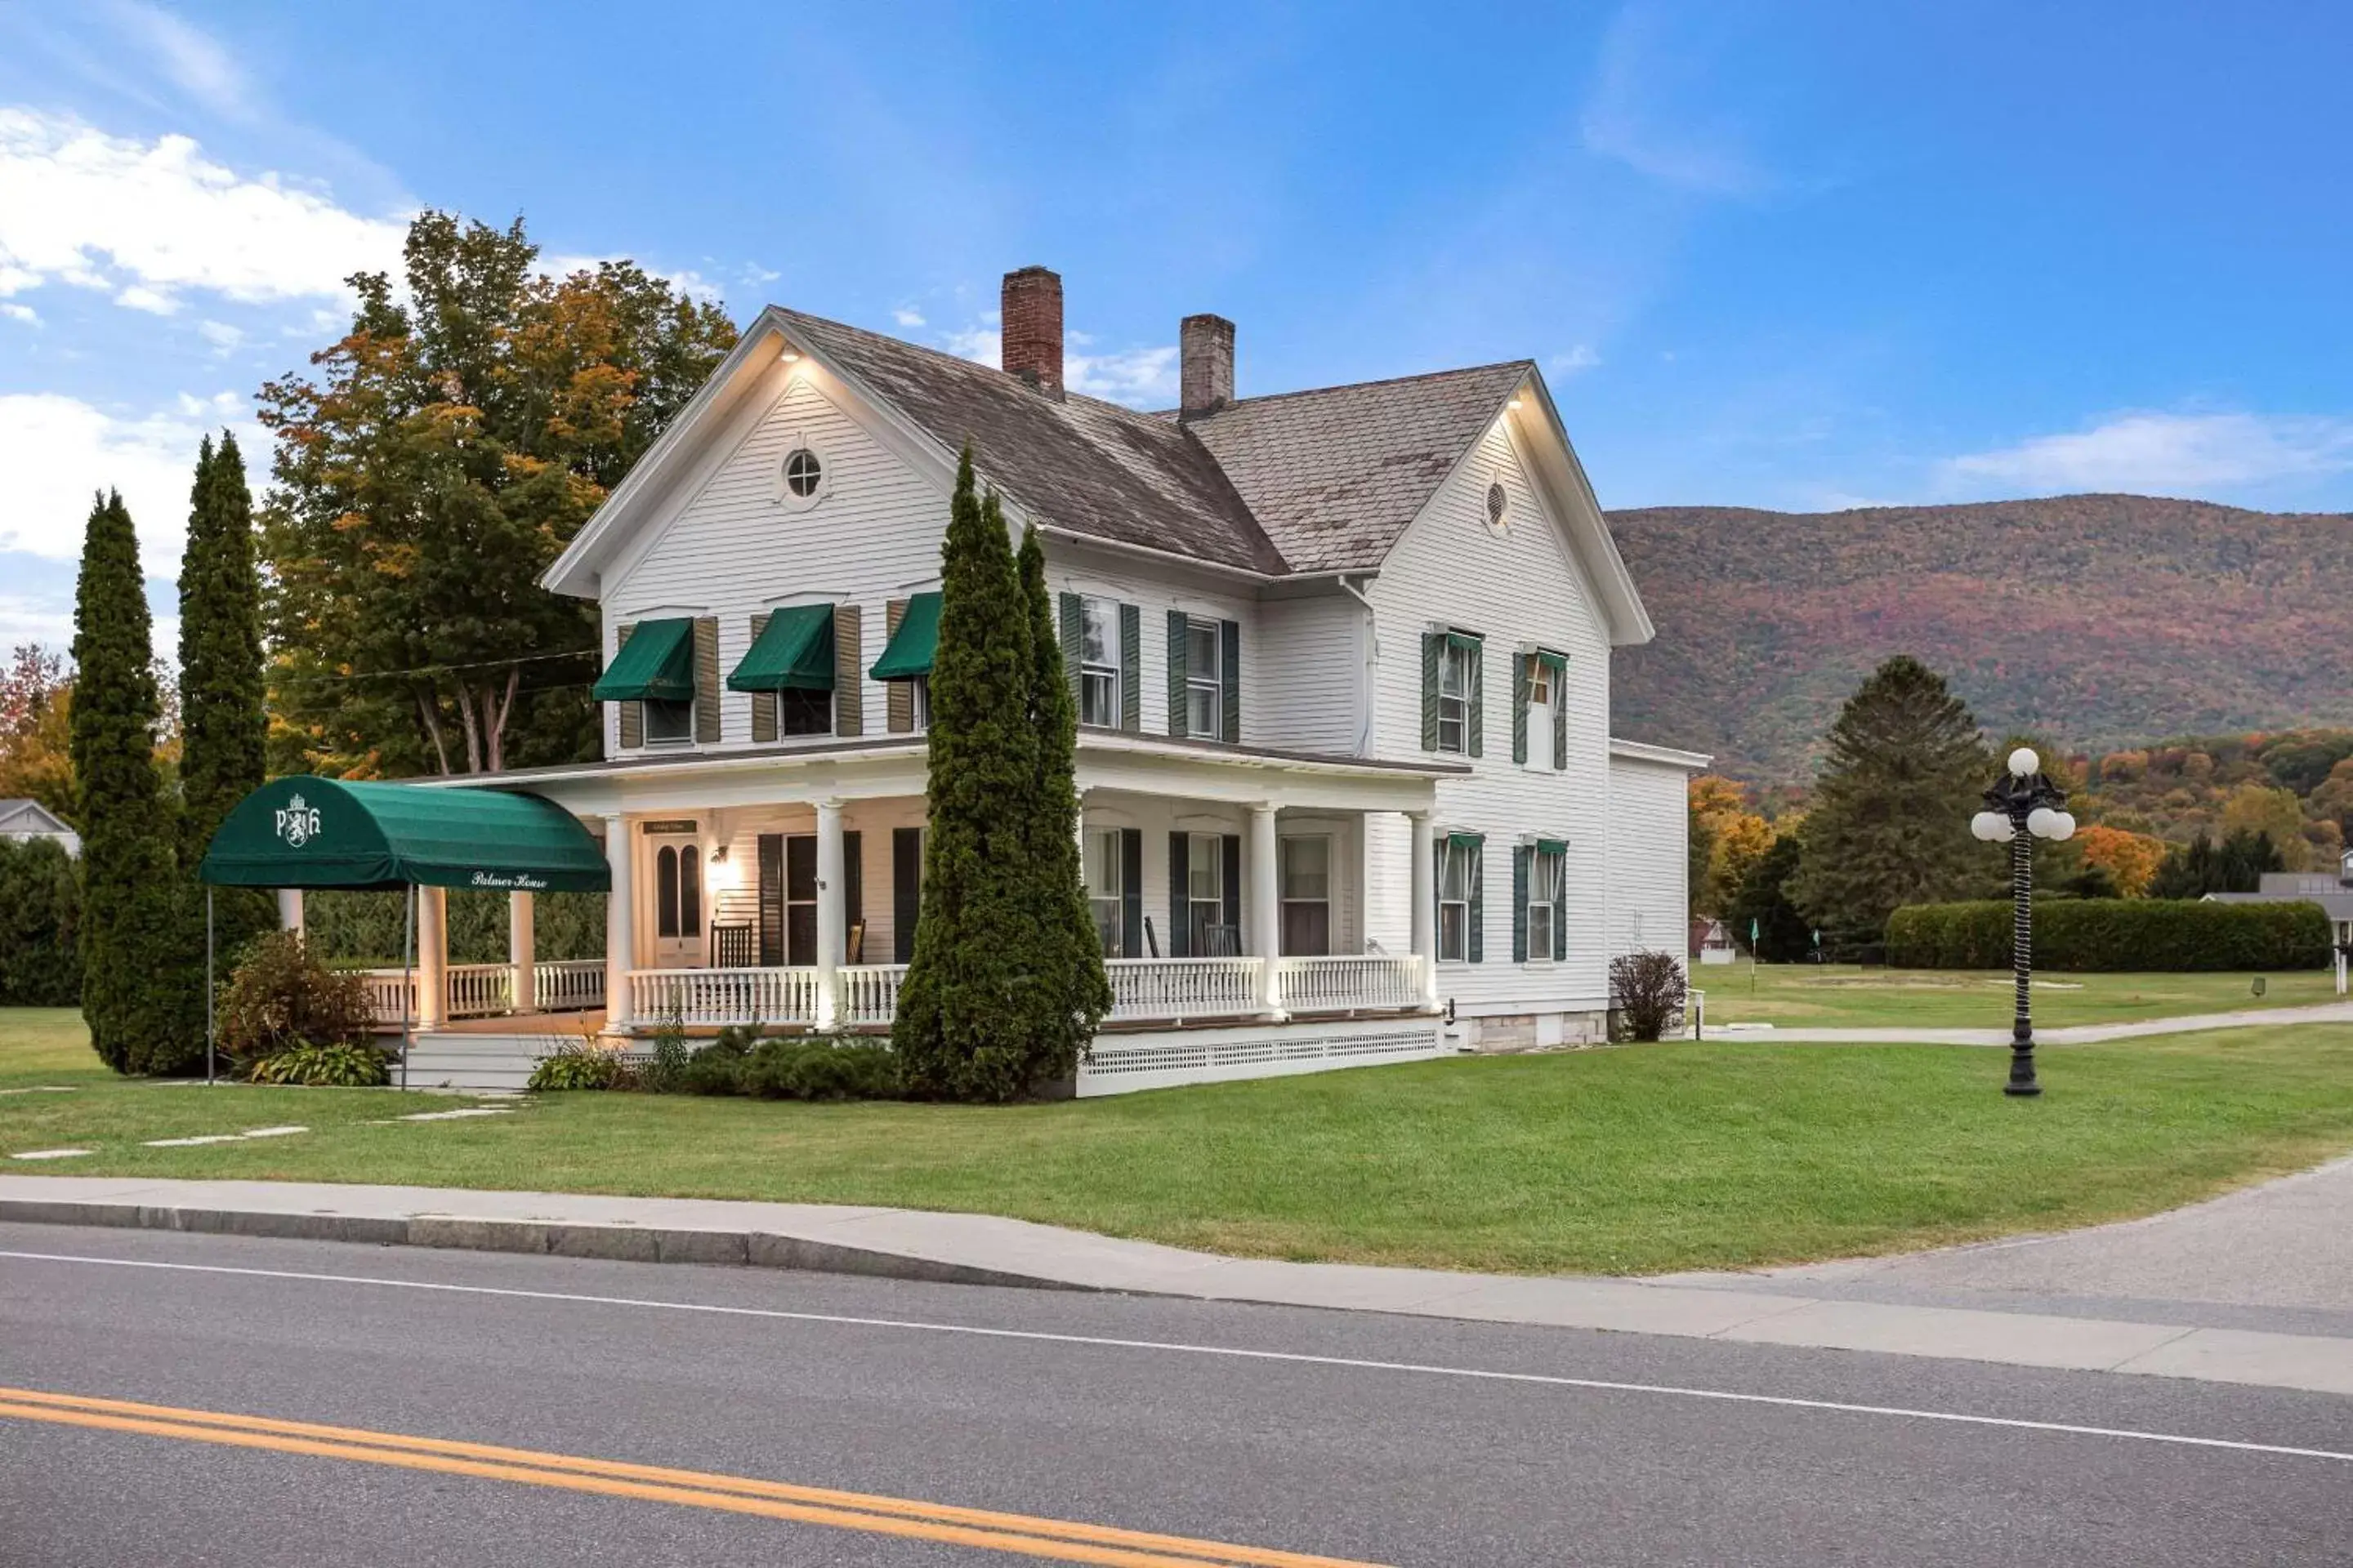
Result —
M795 437L821 454L826 496L793 510L776 480ZM835 404L812 376L791 376L769 411L668 520L626 574L605 588L605 656L614 628L647 611L694 611L720 623L720 670L751 649L751 618L779 602L831 599L861 607L861 703L880 715L885 691L864 679L882 656L892 597L939 578L948 496L899 461ZM609 705L607 705L609 708ZM619 745L605 717L607 755ZM868 724L880 729L880 724ZM720 748L751 745L751 696L722 696ZM701 748L713 750L713 748Z

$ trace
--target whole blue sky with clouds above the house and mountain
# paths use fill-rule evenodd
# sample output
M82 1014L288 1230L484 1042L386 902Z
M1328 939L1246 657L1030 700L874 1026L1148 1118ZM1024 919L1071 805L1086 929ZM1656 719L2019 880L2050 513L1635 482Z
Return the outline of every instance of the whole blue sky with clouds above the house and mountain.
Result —
M1191 310L1245 395L1534 357L1612 508L2346 510L2348 78L2325 5L0 5L0 642L92 487L172 576L421 205L979 357L1045 263L1153 407Z

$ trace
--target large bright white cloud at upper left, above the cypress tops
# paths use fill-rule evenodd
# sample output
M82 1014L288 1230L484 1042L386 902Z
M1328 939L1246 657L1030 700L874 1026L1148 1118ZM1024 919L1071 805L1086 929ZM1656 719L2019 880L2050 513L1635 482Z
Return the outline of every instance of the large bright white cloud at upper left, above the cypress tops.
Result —
M188 136L136 141L0 108L0 294L118 289L134 310L176 292L238 301L341 296L398 270L405 219L367 219L278 174L209 162Z

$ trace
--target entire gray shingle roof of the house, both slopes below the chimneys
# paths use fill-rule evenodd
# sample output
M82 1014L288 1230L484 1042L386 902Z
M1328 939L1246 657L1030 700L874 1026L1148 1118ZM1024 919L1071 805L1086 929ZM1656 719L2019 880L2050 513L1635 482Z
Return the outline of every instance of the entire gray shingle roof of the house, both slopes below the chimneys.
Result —
M1245 397L1207 418L1047 397L1000 369L798 310L793 336L1073 534L1280 574L1381 564L1532 364Z

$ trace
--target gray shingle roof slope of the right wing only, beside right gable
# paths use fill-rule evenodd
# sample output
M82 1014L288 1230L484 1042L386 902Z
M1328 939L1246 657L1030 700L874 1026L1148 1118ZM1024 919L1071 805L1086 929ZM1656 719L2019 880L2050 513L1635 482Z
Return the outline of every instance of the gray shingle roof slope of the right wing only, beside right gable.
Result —
M1513 360L1245 397L1186 430L1292 571L1369 571L1532 369Z

